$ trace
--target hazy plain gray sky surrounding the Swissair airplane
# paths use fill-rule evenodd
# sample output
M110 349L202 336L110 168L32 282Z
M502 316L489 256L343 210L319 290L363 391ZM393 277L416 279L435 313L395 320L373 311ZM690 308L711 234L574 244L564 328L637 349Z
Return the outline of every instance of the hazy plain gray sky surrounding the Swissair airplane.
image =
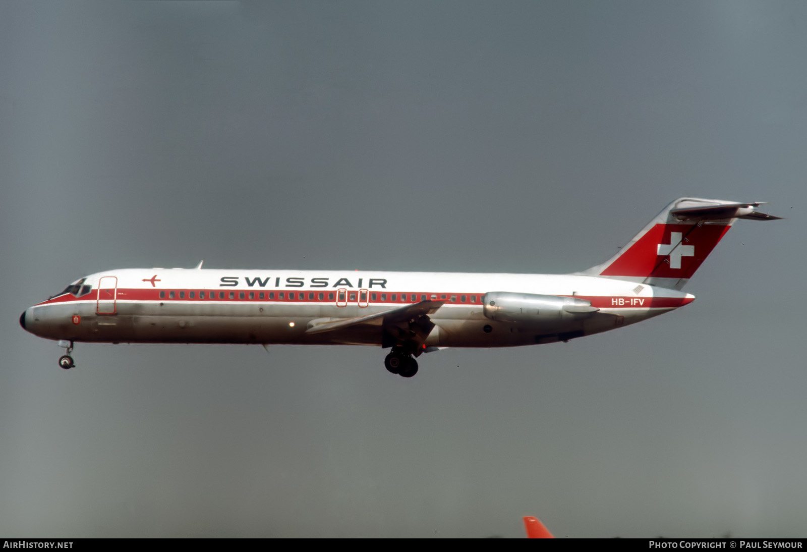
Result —
M805 536L804 2L2 2L0 537ZM564 273L768 201L568 344L78 344L100 270ZM794 211L795 209L795 211Z

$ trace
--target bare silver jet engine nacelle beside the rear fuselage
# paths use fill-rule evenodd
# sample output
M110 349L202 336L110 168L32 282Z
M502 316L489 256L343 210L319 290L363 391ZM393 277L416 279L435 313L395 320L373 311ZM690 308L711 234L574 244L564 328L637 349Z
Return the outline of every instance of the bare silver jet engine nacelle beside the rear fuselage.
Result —
M485 316L500 322L579 320L600 310L590 301L559 295L490 291L484 300Z

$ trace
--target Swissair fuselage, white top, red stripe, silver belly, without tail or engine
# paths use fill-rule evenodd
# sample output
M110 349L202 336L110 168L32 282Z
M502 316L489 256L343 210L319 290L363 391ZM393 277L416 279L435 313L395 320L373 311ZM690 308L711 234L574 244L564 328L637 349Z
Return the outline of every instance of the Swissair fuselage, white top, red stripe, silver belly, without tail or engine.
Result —
M343 270L124 269L91 274L84 295L63 292L20 318L40 337L70 341L383 345L383 326L307 332L313 324L444 301L423 346L504 347L566 341L634 324L693 295L574 274ZM596 312L500 320L486 294L553 295Z

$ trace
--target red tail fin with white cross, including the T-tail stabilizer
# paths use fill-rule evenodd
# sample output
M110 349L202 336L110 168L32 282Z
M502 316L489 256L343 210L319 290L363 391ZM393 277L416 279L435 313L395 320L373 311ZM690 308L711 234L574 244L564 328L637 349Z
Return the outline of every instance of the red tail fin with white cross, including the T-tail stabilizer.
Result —
M679 198L667 205L619 253L578 274L607 276L679 290L738 219L776 220L762 203Z

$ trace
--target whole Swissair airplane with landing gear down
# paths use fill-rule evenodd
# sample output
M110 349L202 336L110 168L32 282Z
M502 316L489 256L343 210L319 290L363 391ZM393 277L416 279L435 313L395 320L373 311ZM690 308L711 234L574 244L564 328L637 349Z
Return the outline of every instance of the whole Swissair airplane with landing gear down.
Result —
M59 341L375 345L411 378L422 353L569 341L683 307L700 264L763 203L679 198L608 261L574 274L121 269L90 274L19 324Z

